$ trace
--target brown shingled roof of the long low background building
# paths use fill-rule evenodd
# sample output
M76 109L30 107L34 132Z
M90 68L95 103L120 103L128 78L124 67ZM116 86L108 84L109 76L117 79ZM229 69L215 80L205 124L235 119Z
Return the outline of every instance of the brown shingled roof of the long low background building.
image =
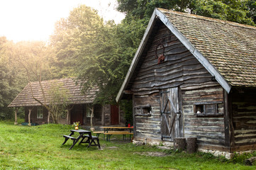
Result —
M93 103L96 92L98 89L89 89L86 95L81 93L81 88L79 83L76 84L74 79L67 78L67 79L55 79L55 80L48 80L48 81L41 81L43 89L45 91L45 96L48 94L48 90L50 89L51 84L63 84L62 88L68 89L69 95L69 104L83 104L83 103ZM33 94L35 98L39 101L43 102L43 93L40 89L40 84L38 81L31 83ZM48 101L46 102L48 103ZM38 101L35 101L30 92L30 85L28 84L16 98L10 103L9 107L21 107L21 106L40 106Z

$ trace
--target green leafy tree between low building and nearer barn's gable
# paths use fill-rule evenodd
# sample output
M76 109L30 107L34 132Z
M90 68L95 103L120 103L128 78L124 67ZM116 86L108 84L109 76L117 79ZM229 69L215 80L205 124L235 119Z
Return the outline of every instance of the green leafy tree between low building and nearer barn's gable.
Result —
M99 87L95 103L114 103L144 33L142 22L123 22L118 26L106 23L91 44L91 51L80 58L78 78L84 80L84 91Z

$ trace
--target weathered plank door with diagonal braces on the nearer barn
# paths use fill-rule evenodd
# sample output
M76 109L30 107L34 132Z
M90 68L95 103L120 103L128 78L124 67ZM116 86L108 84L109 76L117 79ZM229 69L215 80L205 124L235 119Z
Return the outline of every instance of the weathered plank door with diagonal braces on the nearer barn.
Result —
M182 116L179 109L178 87L161 91L162 140L173 141L181 137Z

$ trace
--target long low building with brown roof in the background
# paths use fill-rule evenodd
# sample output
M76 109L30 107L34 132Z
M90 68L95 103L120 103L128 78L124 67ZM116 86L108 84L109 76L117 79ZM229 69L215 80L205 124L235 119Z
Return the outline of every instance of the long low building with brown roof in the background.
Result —
M41 84L45 91L45 96L47 96L48 90L52 84L61 84L62 88L67 89L69 105L67 111L60 116L59 123L72 124L79 121L81 125L91 125L91 110L89 108L93 106L92 103L98 89L90 89L87 91L86 95L83 95L80 86L71 78L41 81ZM43 102L43 93L40 89L39 82L32 82L31 87L35 98ZM47 103L49 103L49 101L47 101ZM38 101L32 98L29 84L14 98L9 107L15 107L17 109L24 107L26 123L37 123L39 125L52 123L52 117L48 114L48 110L43 108ZM93 125L119 125L124 123L123 112L120 111L118 106L94 105L93 107Z

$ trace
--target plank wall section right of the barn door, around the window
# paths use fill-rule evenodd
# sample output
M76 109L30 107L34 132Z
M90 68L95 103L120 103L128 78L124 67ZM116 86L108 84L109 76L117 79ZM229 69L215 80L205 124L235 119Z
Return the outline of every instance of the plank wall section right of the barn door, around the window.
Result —
M204 115L200 117L194 113L194 103L223 101L223 88L196 89L182 91L182 106L184 113L184 135L185 137L198 137L201 145L225 145L225 130L223 103L218 104L220 116Z

